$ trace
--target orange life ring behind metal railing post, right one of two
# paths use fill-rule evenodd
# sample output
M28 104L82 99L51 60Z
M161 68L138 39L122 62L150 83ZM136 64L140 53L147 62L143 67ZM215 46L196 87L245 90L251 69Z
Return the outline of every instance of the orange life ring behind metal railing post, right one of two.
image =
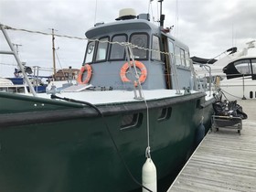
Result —
M141 76L139 78L140 83L144 83L144 81L146 80L146 76L147 76L147 70L146 70L144 64L142 62L138 61L138 60L135 60L135 66L136 66L136 68L141 70ZM132 67L133 67L133 65L132 65ZM124 65L123 65L123 67L121 68L121 71L120 71L120 77L121 77L121 80L123 82L130 82L131 81L126 77L127 69L129 69L128 62L124 63Z

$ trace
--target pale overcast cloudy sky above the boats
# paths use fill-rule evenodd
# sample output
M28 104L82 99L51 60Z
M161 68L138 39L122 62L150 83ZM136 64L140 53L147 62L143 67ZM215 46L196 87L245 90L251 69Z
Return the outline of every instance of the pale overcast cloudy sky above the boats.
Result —
M157 0L0 0L0 24L49 35L6 30L18 48L22 62L39 66L42 75L52 74L52 38L55 33L69 37L85 37L95 23L113 22L123 8L133 8L137 15L149 13L157 24ZM173 27L171 35L190 49L190 56L212 59L231 47L243 48L256 39L255 0L164 0L165 27ZM57 69L80 69L87 41L56 37ZM9 50L0 32L0 50ZM13 76L16 60L0 55L0 77Z

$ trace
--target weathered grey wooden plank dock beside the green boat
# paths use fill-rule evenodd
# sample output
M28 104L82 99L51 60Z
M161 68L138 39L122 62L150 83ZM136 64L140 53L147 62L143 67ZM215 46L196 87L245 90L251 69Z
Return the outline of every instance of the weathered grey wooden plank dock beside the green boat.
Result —
M248 119L240 134L208 133L167 192L256 191L256 101L238 101Z

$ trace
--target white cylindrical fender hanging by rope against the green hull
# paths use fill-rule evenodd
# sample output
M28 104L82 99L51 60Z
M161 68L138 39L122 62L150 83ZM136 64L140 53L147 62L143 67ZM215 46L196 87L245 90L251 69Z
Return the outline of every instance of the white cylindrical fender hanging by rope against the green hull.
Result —
M157 191L156 168L151 158L147 158L143 165L143 186L153 192ZM143 188L143 192L148 191Z

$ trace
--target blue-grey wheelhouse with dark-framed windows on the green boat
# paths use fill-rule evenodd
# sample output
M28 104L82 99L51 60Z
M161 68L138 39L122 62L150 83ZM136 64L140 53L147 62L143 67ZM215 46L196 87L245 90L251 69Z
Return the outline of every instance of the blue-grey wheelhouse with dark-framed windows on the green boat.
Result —
M120 75L127 62L124 43L129 42L133 45L133 59L146 69L145 80L141 83L144 90L192 88L187 46L163 27L151 23L149 16L141 17L96 25L86 32L89 40L83 65L91 66L90 84L114 90L133 88L131 69L125 73L129 81L123 81ZM137 70L141 75L141 69Z

